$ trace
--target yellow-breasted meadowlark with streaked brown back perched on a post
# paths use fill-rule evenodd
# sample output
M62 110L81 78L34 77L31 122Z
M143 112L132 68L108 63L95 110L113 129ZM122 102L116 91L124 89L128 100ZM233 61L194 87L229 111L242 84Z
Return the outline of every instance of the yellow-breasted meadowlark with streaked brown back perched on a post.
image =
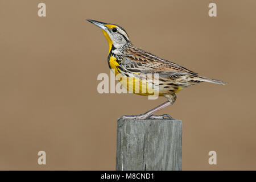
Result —
M105 38L109 43L108 64L109 68L115 73L115 76L122 75L119 79L122 86L129 91L143 96L148 96L153 92L158 92L158 96L164 96L168 101L139 115L124 115L123 119L163 119L171 118L170 115L153 115L164 107L174 104L176 94L188 86L198 84L199 82L211 82L214 84L225 85L226 82L199 76L196 72L171 61L162 59L152 53L143 51L131 44L127 32L117 24L103 23L88 19L97 27L102 29ZM152 74L148 79L146 75ZM158 75L158 82L154 84L155 75ZM133 81L127 81L123 78L133 78ZM126 81L124 81L126 80ZM146 89L146 92L135 92L134 82L139 83L140 88ZM156 90L157 88L157 90Z

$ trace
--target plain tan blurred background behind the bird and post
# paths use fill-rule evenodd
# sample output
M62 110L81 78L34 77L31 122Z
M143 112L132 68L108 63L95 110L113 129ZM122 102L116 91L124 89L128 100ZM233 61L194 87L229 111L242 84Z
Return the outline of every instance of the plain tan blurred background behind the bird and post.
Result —
M166 101L97 92L98 74L109 74L108 43L85 19L119 24L135 46L229 82L191 86L158 113L183 121L183 170L256 169L255 5L1 0L0 169L114 170L117 118Z

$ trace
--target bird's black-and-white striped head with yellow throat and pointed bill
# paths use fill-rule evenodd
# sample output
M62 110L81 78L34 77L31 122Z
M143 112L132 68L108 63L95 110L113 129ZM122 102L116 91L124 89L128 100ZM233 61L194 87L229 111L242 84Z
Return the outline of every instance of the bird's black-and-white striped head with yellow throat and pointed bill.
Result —
M102 29L102 32L109 43L109 52L111 49L121 48L125 46L125 44L130 43L126 31L117 24L103 23L91 19L88 19L88 21Z

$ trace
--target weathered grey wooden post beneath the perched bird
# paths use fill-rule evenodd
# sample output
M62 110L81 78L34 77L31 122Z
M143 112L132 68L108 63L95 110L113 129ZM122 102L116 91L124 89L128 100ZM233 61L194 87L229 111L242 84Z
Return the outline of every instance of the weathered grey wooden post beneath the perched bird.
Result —
M182 122L117 121L117 170L181 170Z

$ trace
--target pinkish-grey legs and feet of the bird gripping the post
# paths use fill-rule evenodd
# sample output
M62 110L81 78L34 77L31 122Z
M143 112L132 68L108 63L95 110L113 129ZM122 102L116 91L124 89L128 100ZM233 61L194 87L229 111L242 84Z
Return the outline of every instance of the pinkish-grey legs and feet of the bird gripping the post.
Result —
M165 97L167 97L168 101L166 101L163 104L155 107L154 109L151 109L151 110L147 111L146 113L139 114L139 115L123 115L122 119L147 119L147 118L148 119L163 119L164 117L168 117L168 118L171 119L170 115L167 115L167 114L153 115L157 111L162 110L165 107L174 104L174 102L176 100L176 95L175 94L168 95L168 96L165 96Z

